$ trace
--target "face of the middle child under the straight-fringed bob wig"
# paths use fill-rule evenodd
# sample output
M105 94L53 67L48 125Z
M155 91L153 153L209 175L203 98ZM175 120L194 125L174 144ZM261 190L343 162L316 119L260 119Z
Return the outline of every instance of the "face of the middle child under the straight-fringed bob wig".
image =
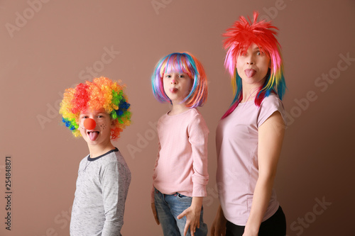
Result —
M169 72L163 76L163 86L172 103L180 103L190 94L192 79L183 72Z

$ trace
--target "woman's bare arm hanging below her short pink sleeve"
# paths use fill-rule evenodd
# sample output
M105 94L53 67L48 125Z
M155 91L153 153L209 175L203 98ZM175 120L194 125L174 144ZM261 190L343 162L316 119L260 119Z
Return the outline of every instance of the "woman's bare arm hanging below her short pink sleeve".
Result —
M285 123L278 111L275 111L258 128L258 181L256 181L251 213L244 236L258 235L271 198L284 133Z

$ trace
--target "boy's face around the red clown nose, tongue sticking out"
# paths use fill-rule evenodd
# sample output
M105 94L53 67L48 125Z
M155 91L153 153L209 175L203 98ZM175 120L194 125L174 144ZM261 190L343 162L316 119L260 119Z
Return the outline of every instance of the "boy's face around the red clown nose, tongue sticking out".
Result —
M84 127L84 120L92 118L96 126L90 130ZM111 128L114 128L114 120L104 110L81 111L79 116L79 129L82 137L88 145L107 145L110 143Z

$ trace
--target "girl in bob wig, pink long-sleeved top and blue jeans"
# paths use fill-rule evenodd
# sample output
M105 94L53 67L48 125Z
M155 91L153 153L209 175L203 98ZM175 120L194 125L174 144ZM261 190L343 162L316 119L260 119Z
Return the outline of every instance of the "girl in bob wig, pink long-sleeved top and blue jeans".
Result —
M207 99L202 64L189 52L158 62L153 94L172 108L158 120L158 158L153 172L152 210L164 235L207 235L202 200L207 196L209 130L197 106Z

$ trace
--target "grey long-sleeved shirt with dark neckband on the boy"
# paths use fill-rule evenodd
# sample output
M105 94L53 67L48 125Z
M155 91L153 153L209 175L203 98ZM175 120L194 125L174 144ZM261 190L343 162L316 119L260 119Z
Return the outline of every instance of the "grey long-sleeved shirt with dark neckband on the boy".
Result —
M71 236L119 236L131 172L119 150L80 162Z

